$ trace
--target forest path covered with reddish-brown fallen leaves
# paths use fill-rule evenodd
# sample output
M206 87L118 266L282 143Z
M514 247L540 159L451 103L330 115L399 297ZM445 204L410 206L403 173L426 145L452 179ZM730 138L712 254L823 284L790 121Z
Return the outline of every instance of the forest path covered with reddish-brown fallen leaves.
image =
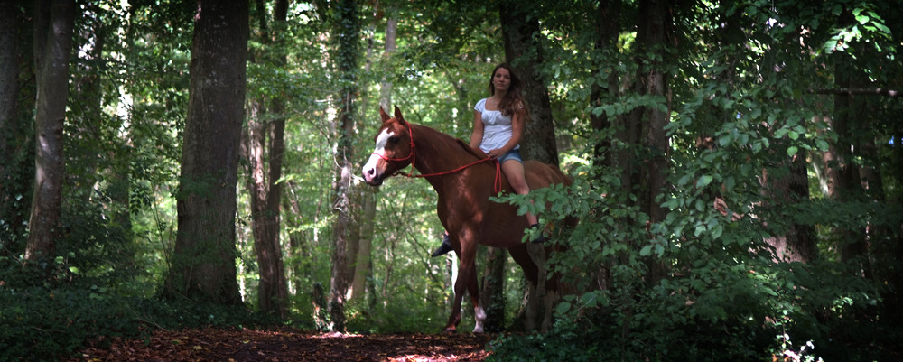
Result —
M340 334L300 330L157 330L98 341L70 361L483 361L493 336Z

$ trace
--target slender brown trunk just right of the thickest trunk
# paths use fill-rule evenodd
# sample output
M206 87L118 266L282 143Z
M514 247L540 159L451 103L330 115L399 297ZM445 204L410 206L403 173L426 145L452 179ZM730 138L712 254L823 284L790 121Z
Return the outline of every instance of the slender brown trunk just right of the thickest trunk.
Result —
M273 20L275 29L267 22L266 6L263 0L256 0L256 16L260 26L261 43L264 49L256 54L257 62L266 63L272 58L275 67L284 67L283 45L280 39L288 14L288 1L277 0ZM272 56L268 56L272 54ZM247 130L243 130L241 153L247 160L247 189L251 203L251 230L254 234L254 251L257 258L260 282L257 285L257 306L260 311L285 316L288 302L288 283L282 247L279 241L280 201L282 185L282 160L284 153L284 101L280 96L269 97L270 112L265 102L268 96L260 95L250 102L251 116ZM267 140L269 141L267 143ZM265 164L268 163L268 164Z

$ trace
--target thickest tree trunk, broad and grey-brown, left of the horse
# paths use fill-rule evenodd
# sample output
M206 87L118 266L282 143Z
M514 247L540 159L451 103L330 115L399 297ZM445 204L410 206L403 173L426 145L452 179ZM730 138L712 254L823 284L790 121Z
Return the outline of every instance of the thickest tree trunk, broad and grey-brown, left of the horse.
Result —
M199 1L168 297L241 303L235 216L247 37L247 0Z

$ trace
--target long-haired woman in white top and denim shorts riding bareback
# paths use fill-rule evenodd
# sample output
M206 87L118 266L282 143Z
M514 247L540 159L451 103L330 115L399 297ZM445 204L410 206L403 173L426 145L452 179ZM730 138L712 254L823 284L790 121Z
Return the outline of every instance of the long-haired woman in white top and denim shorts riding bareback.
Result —
M508 183L518 195L526 195L530 187L524 176L524 161L520 158L520 138L524 135L529 110L524 98L520 95L520 79L511 67L505 63L498 64L489 77L490 97L480 99L473 107L473 133L470 135L470 146L489 154L502 165ZM538 228L535 215L526 213L526 221L532 228ZM538 233L533 242L545 241L542 233ZM442 238L433 257L452 251L448 232Z

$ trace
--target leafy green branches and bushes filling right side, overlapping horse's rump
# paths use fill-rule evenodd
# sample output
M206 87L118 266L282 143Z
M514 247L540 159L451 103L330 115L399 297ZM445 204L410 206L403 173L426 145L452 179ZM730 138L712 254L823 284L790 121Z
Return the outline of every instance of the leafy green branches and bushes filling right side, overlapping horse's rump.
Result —
M638 20L631 17L636 9L630 6L622 9L619 21L632 26ZM606 87L604 77L610 72L629 84L634 61L645 55L631 52L631 33L622 32L616 48L594 49L595 34L557 20L568 17L566 10L550 15L554 21L546 23L544 39L551 48L546 55L555 61L542 70L554 88L553 104L562 105L562 118L575 120L569 125L571 140L585 141L586 148L578 147L566 158L573 187L498 201L517 204L520 212L535 212L548 203L539 214L554 223L554 244L563 246L550 267L573 291L565 292L557 306L553 330L498 339L492 358L898 357L893 340L901 330L892 302L898 301L898 292L889 287L898 285L892 283L900 270L899 260L891 256L899 253L903 222L898 198L885 201L872 194L824 200L814 188L811 200L782 199L769 193L763 181L763 175L770 182L787 177L794 157L820 154L837 141L833 129L820 122L830 99L811 91L833 87L833 74L813 66L832 61L818 58L824 55L820 50L848 51L858 69L881 73L870 76L875 81L871 86L881 87L884 77L898 79L899 67L890 66L897 62L888 62L896 56L896 46L886 38L886 18L896 12L872 10L885 5L842 1L821 8L773 2L696 6L672 13L678 32L671 35L676 49L669 54L678 58L667 60L674 63L666 67L675 75L668 84L673 98L636 95L622 87L617 97L603 95L600 104L585 108L573 103L587 105L590 88ZM575 9L572 17L583 12ZM837 26L842 13L850 14L853 23ZM861 31L865 26L868 32ZM805 29L802 35L799 29ZM887 122L894 116L885 112L896 110L898 102L888 99L870 99L874 111L858 119L883 130L893 128ZM638 206L642 186L624 190L621 183L627 167L610 165L617 160L593 162L609 161L596 155L617 152L644 162L648 150L615 137L623 131L617 124L592 130L587 119L608 116L616 122L649 107L670 112L666 129L671 149L669 187L656 198L667 214L647 223L651 218ZM893 129L889 132L898 133L898 127ZM887 143L883 131L871 131L859 131L853 144ZM601 150L594 148L599 146ZM878 193L896 194L897 177L887 177L887 172L898 164L889 156L898 150L878 148L882 155L875 160L883 161L870 167L880 168L886 185L894 185ZM874 161L863 157L853 162ZM718 200L726 203L727 215L713 207ZM561 227L569 216L579 217L580 224ZM818 230L818 255L808 264L776 262L768 243L794 227ZM836 229L857 231L843 236ZM851 241L831 238L861 237L863 230L870 230L874 240L870 261L840 260L838 248ZM880 275L863 274L862 265ZM663 270L665 275L657 275Z

